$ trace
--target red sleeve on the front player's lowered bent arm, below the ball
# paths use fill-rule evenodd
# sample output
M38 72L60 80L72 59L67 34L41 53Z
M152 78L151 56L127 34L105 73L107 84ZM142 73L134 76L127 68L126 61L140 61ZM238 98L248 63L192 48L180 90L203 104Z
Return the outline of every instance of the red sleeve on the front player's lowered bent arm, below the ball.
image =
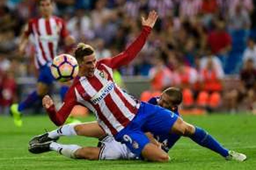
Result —
M69 90L64 99L63 105L61 106L59 111L56 111L56 108L54 105L49 107L46 111L48 113L49 118L52 120L52 122L55 125L60 126L65 123L73 107L77 104L79 103L76 102L74 92Z

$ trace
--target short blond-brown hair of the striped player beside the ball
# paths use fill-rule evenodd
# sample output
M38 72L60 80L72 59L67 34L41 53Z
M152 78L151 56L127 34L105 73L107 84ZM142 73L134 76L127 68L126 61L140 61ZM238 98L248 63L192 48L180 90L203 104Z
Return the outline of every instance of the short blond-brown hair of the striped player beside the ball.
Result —
M91 55L93 53L94 53L93 47L84 43L79 43L75 50L75 58L77 62L81 62L83 61L84 56Z

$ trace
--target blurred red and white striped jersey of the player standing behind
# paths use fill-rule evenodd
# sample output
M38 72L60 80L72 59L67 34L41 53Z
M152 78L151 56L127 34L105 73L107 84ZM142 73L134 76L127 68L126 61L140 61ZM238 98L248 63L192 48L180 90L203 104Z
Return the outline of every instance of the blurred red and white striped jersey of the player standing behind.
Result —
M63 19L52 16L49 19L34 18L29 20L25 28L25 35L33 35L36 51L35 65L37 68L51 63L57 55L60 38L69 35Z

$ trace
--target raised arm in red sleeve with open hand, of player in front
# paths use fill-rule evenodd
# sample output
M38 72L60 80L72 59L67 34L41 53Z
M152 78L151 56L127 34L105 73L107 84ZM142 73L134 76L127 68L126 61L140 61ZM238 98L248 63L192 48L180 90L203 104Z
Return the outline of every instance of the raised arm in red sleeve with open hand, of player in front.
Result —
M133 41L133 43L124 52L114 56L113 58L106 58L100 60L98 63L103 63L113 69L129 64L141 51L148 35L151 32L151 29L154 27L156 23L157 18L158 15L155 11L151 11L146 19L142 17L141 23L143 29L140 35L136 38L136 40Z

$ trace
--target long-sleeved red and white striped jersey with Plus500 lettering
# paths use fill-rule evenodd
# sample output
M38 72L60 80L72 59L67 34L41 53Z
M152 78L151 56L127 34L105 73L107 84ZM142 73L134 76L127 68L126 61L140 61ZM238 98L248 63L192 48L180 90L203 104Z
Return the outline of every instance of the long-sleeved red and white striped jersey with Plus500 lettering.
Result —
M140 102L121 90L113 81L112 69L127 65L146 42L151 28L144 26L137 39L122 53L97 62L93 77L78 77L69 88L64 104L56 112L52 105L47 113L56 125L62 125L72 108L83 105L97 116L98 123L109 135L124 129L137 114Z

